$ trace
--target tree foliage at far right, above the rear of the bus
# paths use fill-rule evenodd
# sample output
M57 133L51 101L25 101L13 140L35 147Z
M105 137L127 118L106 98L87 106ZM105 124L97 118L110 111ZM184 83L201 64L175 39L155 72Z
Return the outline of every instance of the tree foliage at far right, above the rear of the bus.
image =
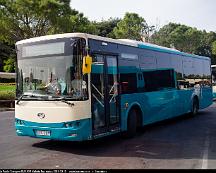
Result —
M152 35L152 42L161 46L171 47L183 52L208 56L215 62L213 42L215 32L197 30L186 25L169 23ZM216 62L215 62L216 63Z

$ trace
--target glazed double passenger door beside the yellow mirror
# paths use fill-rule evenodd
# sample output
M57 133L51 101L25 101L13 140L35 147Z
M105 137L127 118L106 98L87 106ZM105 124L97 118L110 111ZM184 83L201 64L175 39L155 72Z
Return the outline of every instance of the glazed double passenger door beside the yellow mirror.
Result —
M117 56L93 55L91 73L93 135L119 129Z

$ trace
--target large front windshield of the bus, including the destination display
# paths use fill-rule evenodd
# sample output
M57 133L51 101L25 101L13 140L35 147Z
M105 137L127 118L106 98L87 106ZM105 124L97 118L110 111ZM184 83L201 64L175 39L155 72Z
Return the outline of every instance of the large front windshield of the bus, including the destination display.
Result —
M82 75L85 40L58 40L18 46L17 97L86 100L87 75Z

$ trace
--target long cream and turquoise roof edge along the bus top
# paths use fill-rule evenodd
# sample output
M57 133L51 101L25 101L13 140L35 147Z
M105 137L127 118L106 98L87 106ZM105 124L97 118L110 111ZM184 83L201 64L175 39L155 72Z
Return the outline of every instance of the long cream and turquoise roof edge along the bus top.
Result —
M116 44L132 46L132 47L138 47L141 49L148 49L148 50L164 52L164 53L169 53L169 54L177 54L177 55L183 55L183 56L196 57L196 58L210 60L209 57L184 53L176 49L158 46L156 44L145 43L145 42L129 40L129 39L112 39L112 38L101 37L101 36L96 36L96 35L91 35L91 34L86 34L86 33L65 33L65 34L55 34L55 35L34 37L34 38L18 41L16 45L38 42L38 41L43 41L43 40L53 40L53 39L58 39L58 38L71 38L71 37L81 37L81 38L86 38L86 39L91 38L91 39L100 40L104 42L111 42L111 43L116 43Z

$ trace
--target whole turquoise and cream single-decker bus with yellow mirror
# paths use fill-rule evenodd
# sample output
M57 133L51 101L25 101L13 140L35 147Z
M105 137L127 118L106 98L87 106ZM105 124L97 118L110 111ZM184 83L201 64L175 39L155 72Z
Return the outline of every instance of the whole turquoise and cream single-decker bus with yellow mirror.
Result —
M138 127L212 104L208 57L85 33L22 40L16 49L19 136L132 137Z

